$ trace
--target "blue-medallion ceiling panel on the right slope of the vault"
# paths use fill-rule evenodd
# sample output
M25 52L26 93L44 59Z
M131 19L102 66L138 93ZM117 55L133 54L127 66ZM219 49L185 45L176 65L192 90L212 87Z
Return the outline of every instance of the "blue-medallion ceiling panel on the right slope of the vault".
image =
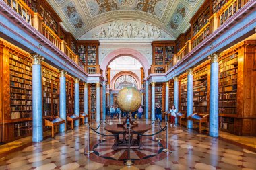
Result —
M172 30L177 30L181 22L183 22L183 19L186 17L187 13L189 13L189 9L187 9L187 7L185 7L181 3L179 3L175 11L176 12L174 13L174 15L172 15L172 19L170 19L169 23Z

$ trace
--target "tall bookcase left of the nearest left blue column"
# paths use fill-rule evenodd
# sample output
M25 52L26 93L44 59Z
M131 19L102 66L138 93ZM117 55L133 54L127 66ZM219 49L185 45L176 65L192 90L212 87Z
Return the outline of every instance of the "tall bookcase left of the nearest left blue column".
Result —
M9 57L11 119L32 118L32 63L29 58ZM26 73L26 74L25 74Z

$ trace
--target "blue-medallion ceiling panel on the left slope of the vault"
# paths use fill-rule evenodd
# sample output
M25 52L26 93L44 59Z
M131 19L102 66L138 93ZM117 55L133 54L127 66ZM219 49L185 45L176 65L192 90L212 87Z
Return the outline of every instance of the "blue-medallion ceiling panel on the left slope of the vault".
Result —
M77 9L75 8L75 5L73 2L63 7L63 12L68 17L69 22L71 22L75 30L79 30L84 26L84 22L82 21L79 13L77 12Z

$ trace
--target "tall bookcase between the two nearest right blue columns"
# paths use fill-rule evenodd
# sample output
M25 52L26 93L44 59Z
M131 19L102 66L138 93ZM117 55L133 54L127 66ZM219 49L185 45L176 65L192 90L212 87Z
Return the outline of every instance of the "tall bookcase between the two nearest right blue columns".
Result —
M207 113L207 64L200 65L193 73L193 112Z

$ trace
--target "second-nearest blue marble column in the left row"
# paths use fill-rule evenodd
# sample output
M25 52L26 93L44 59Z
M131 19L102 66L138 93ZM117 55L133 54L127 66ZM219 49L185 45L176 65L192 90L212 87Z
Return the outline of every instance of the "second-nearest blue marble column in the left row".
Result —
M59 117L67 122L66 118L66 71L59 73ZM59 132L65 132L65 124L59 125Z

